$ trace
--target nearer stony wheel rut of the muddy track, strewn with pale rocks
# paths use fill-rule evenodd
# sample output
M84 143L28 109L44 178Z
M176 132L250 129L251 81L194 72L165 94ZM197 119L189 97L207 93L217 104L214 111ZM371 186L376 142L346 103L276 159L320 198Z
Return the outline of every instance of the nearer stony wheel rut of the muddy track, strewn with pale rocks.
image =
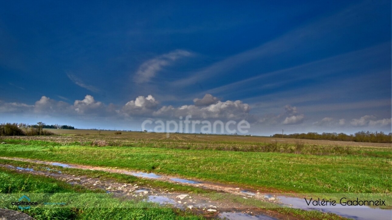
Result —
M2 157L2 159L5 159ZM61 164L56 162L43 162L35 160L25 160L21 158L12 158L18 161L33 162L44 165L58 165L61 167L87 169L85 166L76 166L70 164ZM102 189L114 197L126 197L136 201L156 202L160 205L169 205L182 210L192 211L195 214L201 214L207 218L227 218L227 219L287 219L287 215L282 215L276 211L260 209L229 200L211 200L208 194L196 193L176 193L168 189L160 189L149 186L139 186L138 184L124 184L113 180L101 180L100 178L89 178L87 176L67 175L59 170L47 167L47 171L34 170L32 168L17 167L14 165L0 164L10 170L20 173L33 175L42 175L58 180L65 181L71 185L82 185L88 189ZM100 170L100 169L91 169ZM115 173L121 173L116 170ZM129 172L129 171L127 171ZM136 175L138 176L138 175ZM143 177L142 177L143 178ZM146 177L144 177L146 178ZM174 181L173 181L174 182ZM182 183L188 185L189 183ZM244 195L244 198L252 198L252 195ZM292 219L298 219L292 216Z

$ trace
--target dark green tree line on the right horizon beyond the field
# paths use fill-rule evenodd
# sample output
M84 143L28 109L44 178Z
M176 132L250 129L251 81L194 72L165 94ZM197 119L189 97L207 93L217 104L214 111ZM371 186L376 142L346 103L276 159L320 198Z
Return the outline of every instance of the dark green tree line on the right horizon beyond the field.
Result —
M347 135L345 133L294 133L290 135L275 134L275 138L298 138L298 139L311 139L311 140L341 140L341 141L354 141L354 142L372 142L372 143L392 143L392 133L388 135L380 132L359 131L354 135Z

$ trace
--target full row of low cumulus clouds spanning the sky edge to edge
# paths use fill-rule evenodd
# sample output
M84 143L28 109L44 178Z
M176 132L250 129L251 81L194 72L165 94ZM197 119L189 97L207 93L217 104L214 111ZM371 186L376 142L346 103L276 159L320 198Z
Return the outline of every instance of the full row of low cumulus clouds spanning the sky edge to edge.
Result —
M73 104L57 101L47 96L42 96L34 105L11 102L6 103L0 100L1 113L20 114L43 114L51 116L101 116L101 117L138 117L138 118L160 118L166 120L178 120L180 116L191 115L194 120L247 120L250 123L261 124L283 124L294 125L303 123L305 115L301 114L297 107L286 105L284 113L279 115L269 114L260 118L250 114L249 104L241 100L221 101L211 94L206 94L203 98L195 98L193 104L181 105L160 105L152 95L138 96L125 105L116 106L114 104L105 105L94 99L91 95L86 95L82 100L75 100ZM345 119L334 119L325 117L314 125L323 126L352 126L381 128L391 126L392 118L377 118L373 115L365 115L361 118L354 118L348 122Z

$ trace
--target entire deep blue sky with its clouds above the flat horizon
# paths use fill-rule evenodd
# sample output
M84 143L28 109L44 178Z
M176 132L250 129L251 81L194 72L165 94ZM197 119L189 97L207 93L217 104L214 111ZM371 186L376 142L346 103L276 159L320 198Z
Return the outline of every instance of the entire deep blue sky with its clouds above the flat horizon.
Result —
M0 8L0 120L391 132L390 1L21 1Z

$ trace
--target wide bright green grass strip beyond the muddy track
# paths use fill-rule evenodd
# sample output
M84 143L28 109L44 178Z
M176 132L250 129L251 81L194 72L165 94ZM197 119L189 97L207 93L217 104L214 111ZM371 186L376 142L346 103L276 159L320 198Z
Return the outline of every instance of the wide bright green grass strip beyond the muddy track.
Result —
M9 144L0 145L0 155L119 167L283 192L389 193L392 189L392 151L385 147L347 149L303 144L301 152L296 153L295 144L278 144L273 152L247 152L252 146L263 150L266 144L139 140L124 136L116 139L104 135L51 138L4 140ZM91 146L92 140L114 142L121 147ZM238 148L225 149L230 145ZM217 149L220 146L223 149Z

